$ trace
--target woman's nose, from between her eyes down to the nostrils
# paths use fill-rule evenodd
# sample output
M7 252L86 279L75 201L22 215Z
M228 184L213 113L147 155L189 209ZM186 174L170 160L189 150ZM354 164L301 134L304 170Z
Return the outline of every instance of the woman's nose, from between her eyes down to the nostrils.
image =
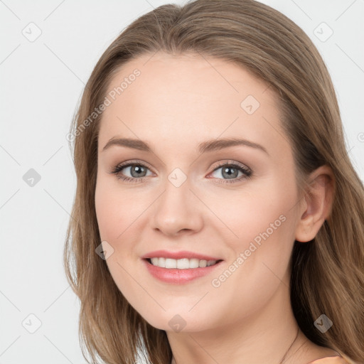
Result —
M191 180L181 168L175 168L164 181L164 192L155 202L154 228L166 234L179 230L198 230L202 214L196 196L190 191Z

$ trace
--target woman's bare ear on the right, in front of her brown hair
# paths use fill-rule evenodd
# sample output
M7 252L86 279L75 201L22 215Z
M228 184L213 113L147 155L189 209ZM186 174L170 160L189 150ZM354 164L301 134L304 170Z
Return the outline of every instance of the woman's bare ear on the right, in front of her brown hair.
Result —
M319 232L331 213L335 193L335 178L329 166L321 166L309 176L296 226L296 240L309 242Z

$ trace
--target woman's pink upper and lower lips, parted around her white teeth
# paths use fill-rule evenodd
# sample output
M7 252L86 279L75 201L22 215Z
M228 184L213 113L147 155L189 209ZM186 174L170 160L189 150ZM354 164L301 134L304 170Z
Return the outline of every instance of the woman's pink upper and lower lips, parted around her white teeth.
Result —
M149 262L149 258L154 257L165 257L171 259L200 259L200 260L220 260L220 262L210 265L210 267L204 268L191 268L191 269L168 269L156 267L155 265ZM203 277L220 265L222 262L221 259L210 257L208 255L200 255L194 252L167 252L166 250L157 250L155 252L147 253L142 257L143 263L146 265L146 269L148 269L149 273L159 279L161 282L171 283L171 284L186 284L191 282L193 279L197 279L198 277Z

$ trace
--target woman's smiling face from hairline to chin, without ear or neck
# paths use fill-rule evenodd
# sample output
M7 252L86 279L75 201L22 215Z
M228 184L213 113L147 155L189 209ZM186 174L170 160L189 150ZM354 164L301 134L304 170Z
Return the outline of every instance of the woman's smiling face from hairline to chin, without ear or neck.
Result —
M302 209L272 89L225 60L156 53L124 65L107 98L97 222L134 309L166 331L288 309Z

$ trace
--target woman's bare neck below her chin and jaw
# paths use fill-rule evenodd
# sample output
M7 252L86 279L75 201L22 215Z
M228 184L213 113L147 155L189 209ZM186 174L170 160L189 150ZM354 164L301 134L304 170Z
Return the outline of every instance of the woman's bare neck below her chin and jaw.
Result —
M242 321L208 331L168 331L167 337L172 364L306 363L301 352L308 340L294 319L284 284L261 311Z

